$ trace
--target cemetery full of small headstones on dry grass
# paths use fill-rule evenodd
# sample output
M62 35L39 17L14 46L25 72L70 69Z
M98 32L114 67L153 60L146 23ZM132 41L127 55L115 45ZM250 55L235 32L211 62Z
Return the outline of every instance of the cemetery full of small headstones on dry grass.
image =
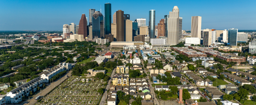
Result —
M102 79L72 76L36 105L97 105L102 96L97 90L105 88L104 84Z

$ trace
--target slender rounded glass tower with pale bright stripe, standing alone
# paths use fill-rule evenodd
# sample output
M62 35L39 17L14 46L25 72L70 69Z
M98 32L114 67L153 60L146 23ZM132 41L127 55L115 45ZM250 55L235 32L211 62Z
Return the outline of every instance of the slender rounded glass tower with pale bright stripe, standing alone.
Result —
M149 10L149 37L155 38L155 22L156 22L156 11L155 10Z

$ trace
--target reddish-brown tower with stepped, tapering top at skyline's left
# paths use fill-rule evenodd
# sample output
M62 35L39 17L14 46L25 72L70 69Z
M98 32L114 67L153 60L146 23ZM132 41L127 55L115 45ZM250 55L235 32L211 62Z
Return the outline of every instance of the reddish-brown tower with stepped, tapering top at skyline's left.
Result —
M83 38L87 37L87 20L85 14L82 14L80 22L79 22L79 29L78 34L83 35Z

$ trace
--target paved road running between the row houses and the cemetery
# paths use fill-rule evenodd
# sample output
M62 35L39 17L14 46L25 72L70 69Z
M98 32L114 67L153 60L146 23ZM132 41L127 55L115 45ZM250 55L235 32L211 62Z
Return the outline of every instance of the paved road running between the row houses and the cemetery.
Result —
M69 77L71 76L71 70L66 74ZM47 86L45 89L43 89L42 91L40 91L39 93L37 93L35 96L33 96L32 99L29 99L27 102L29 102L28 104L24 104L24 105L34 105L37 103L37 101L35 101L35 98L37 96L45 96L48 92L50 92L51 90L54 89L55 86L59 86L60 83L62 83L64 80L66 80L68 77L66 77L66 75L62 76L61 79L57 79L55 82L51 83L49 86ZM41 93L41 94L40 94Z

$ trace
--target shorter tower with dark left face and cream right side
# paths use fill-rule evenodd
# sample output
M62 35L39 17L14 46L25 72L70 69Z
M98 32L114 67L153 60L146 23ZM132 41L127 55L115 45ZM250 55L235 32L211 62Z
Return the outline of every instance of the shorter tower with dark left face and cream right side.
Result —
M204 29L203 30L203 45L205 45L205 46L211 45L211 37L212 37L211 32L212 32L211 29Z

